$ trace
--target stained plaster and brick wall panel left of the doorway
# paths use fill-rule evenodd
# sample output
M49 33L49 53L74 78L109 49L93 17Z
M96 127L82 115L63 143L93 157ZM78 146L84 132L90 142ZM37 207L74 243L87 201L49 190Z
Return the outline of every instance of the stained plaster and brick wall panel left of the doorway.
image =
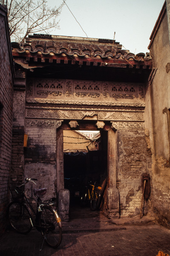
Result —
M24 150L24 178L37 179L37 185L26 185L28 195L32 197L32 187L46 187L45 199L56 198L56 129L27 127L26 133L29 137Z

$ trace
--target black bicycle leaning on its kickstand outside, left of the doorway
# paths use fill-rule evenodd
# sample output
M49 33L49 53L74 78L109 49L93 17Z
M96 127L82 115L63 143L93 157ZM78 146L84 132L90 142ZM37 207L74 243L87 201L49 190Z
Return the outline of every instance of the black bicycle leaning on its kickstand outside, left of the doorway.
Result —
M16 186L14 189L19 195L19 199L9 204L7 209L8 220L12 228L21 234L27 234L32 227L35 227L42 234L43 243L46 241L50 247L56 248L61 244L62 240L61 218L52 207L55 204L54 202L40 199L46 194L46 188L34 189L34 195L37 198L35 212L25 194L26 183L29 181L35 183L34 180L37 179L26 178L22 185ZM42 247L40 250L42 250Z

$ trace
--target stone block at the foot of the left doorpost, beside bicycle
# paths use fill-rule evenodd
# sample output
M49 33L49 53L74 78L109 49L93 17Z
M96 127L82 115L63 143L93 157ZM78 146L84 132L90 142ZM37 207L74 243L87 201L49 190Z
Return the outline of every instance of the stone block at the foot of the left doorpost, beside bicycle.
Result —
M61 221L69 221L69 201L69 190L60 189L58 192L58 214Z

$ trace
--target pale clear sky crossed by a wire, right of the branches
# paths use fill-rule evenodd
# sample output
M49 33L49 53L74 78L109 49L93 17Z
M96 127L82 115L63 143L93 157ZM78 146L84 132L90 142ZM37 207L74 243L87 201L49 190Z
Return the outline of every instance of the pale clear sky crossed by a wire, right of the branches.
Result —
M47 0L59 6L63 0ZM149 52L150 35L164 0L66 0L59 17L60 29L51 35L115 39L132 53ZM80 23L80 25L78 24Z

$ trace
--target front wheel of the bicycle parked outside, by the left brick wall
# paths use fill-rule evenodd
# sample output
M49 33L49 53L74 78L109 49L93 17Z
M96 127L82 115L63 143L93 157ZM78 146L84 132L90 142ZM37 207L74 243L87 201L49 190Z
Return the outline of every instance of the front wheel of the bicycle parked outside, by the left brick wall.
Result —
M29 212L26 207L17 201L14 201L8 206L9 223L18 233L26 234L32 229Z

